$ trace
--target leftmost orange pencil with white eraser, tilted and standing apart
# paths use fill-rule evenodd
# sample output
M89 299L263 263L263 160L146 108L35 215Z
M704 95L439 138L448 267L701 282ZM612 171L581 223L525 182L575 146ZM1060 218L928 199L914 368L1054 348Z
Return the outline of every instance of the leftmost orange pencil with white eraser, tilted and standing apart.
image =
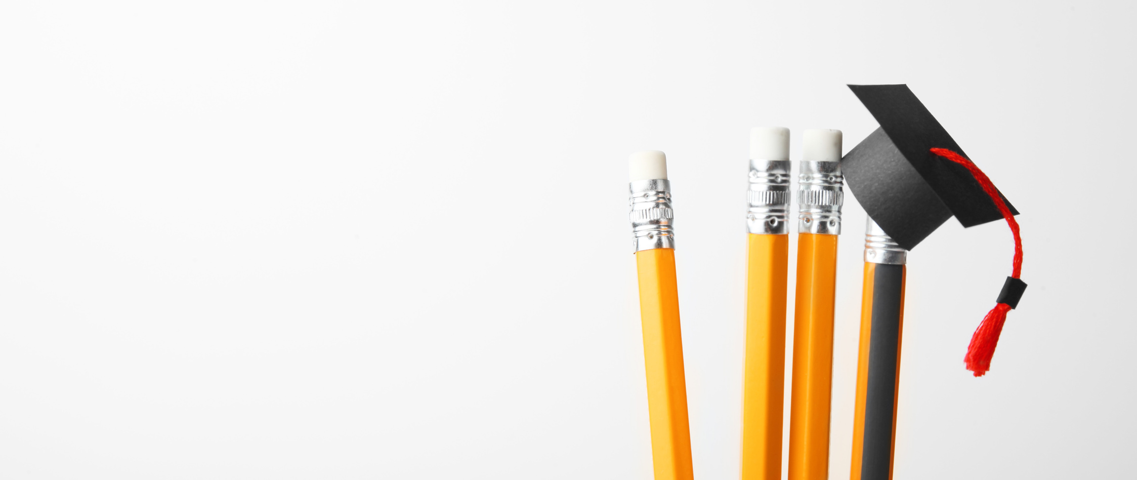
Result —
M630 158L631 222L639 276L652 463L656 480L690 480L683 344L679 331L671 183L662 151Z

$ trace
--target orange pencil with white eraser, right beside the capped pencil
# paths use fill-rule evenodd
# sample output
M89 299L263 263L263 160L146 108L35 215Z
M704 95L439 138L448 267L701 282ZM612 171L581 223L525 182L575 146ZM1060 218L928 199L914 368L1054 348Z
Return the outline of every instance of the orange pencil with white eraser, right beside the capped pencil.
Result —
M829 475L841 132L806 130L798 175L797 285L790 387L789 479Z

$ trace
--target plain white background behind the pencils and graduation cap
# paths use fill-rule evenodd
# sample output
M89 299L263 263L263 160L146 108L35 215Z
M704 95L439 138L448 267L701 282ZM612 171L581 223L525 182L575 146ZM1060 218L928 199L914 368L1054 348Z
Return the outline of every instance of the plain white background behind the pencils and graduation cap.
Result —
M985 378L1006 225L910 257L895 478L1137 467L1132 2L99 3L0 6L0 478L649 479L644 149L696 477L737 478L747 131L847 150L846 83L907 83L1023 213Z

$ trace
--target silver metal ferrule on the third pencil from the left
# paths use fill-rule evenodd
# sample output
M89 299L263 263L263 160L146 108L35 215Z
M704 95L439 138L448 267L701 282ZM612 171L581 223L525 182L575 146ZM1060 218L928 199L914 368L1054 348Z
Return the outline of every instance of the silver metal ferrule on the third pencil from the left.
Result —
M837 162L802 162L797 181L797 231L799 233L841 232L841 164Z

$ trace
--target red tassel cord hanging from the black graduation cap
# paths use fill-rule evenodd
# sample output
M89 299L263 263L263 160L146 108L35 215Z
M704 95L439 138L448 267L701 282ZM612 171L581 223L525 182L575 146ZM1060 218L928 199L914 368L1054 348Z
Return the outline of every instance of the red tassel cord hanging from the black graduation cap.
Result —
M990 179L976 164L962 155L946 148L933 148L931 152L966 167L979 185L984 188L984 191L990 196L1006 223L1011 225L1011 233L1014 234L1014 263L1011 276L1018 279L1022 273L1022 238L1019 237L1019 222L1014 221L1014 215L1011 215L1011 209L999 197L998 190L995 190ZM995 308L987 313L982 323L976 329L976 333L971 336L971 344L968 345L968 355L963 357L963 363L976 376L982 376L990 370L995 345L998 344L998 336L1003 332L1003 323L1006 322L1006 313L1010 311L1011 306L1007 304L995 304Z

